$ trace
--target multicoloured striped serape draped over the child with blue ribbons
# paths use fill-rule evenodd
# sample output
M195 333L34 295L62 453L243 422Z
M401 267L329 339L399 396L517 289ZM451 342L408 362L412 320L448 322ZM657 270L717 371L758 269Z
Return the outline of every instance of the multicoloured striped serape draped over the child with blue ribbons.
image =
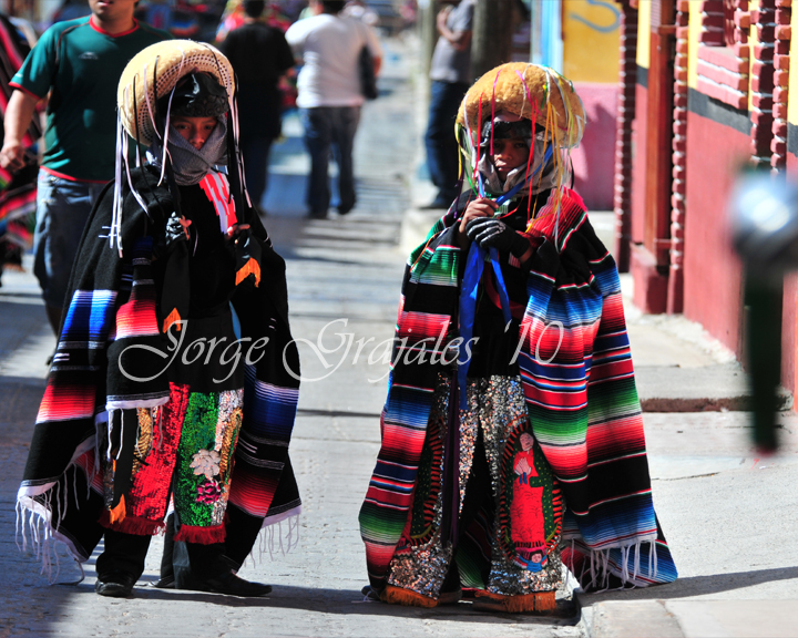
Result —
M405 272L382 445L359 517L377 589L412 505L441 371L430 360L457 336L458 219L456 205L410 255ZM615 263L581 197L567 188L551 192L530 235L536 249L518 361L534 435L566 504L563 562L585 588L672 582L676 567L654 512Z

